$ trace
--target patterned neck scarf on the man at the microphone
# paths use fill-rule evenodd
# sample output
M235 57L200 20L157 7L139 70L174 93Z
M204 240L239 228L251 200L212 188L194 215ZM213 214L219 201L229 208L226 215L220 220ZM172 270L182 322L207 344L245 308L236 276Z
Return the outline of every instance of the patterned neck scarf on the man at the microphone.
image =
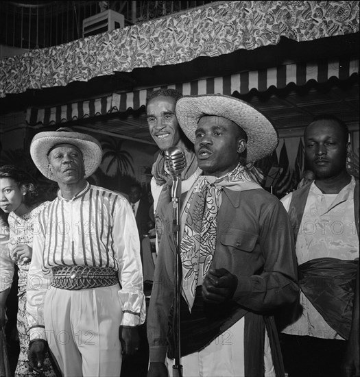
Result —
M182 295L189 310L195 300L195 290L202 285L215 252L217 212L224 187L233 191L261 189L246 169L237 167L221 178L200 175L185 199L182 215Z

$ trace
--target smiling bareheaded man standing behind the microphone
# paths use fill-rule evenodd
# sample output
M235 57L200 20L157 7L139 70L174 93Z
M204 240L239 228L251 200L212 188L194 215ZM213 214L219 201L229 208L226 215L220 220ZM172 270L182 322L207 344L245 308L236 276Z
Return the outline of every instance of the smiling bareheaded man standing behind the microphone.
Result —
M164 152L169 147L182 148L185 155L186 167L181 173L182 192L187 192L195 182L200 169L197 169L197 160L193 145L180 129L176 119L175 106L182 94L175 89L159 89L150 93L146 99L146 114L149 132L160 148L158 157L152 166L152 197L154 198L155 228L158 242L166 231L165 210L171 202L169 186L172 178L165 167Z

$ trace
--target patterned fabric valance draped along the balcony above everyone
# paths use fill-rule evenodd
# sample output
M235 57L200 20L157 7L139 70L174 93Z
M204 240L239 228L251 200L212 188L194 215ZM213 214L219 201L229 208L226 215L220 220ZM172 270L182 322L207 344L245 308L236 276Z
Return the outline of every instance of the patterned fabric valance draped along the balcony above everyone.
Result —
M115 71L359 32L358 1L219 1L0 61L0 97Z

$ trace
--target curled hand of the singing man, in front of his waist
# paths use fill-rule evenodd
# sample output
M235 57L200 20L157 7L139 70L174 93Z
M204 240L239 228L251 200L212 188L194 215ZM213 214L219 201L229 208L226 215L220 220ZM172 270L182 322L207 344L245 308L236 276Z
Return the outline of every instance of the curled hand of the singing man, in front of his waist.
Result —
M202 297L208 304L231 300L237 289L237 277L227 269L210 269L202 284Z

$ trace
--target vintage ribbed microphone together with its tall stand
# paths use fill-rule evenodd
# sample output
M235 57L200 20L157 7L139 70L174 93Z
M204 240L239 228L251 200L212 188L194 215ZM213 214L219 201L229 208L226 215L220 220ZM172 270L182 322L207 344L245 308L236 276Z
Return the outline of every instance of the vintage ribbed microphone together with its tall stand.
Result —
M175 237L175 307L173 311L173 334L175 348L175 365L173 365L173 377L182 377L182 365L180 365L180 297L182 267L180 258L180 197L181 197L181 173L187 166L185 154L180 147L170 147L165 150L165 165L173 179L171 187L171 201L173 202L173 233Z

